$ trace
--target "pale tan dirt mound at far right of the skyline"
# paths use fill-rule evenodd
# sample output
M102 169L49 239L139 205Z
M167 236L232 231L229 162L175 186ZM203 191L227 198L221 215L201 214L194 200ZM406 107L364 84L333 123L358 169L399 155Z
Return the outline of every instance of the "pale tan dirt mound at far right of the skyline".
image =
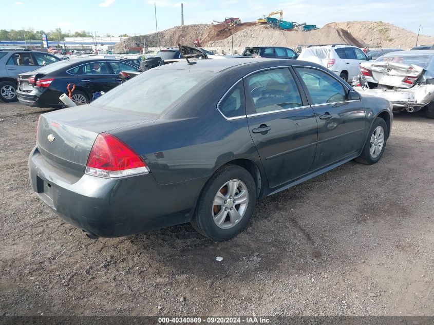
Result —
M342 28L369 47L409 49L416 45L418 34L383 22L356 21L330 23L323 28ZM419 35L419 45L434 44L434 37Z

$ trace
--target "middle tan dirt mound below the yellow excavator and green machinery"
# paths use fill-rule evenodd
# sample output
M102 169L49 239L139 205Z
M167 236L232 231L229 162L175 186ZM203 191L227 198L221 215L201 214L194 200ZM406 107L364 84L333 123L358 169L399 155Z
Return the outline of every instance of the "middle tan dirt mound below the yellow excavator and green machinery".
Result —
M350 32L340 28L321 28L310 32L274 30L266 25L256 25L241 30L233 35L234 47L248 46L285 46L296 47L299 44L336 44L346 43L365 46ZM231 47L232 36L221 41L211 41L204 46Z

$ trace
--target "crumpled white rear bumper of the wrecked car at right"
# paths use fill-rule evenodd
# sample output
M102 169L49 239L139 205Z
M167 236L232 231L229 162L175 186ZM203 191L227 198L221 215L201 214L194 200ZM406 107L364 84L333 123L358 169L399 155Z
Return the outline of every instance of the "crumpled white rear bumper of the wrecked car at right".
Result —
M416 85L410 89L367 89L358 86L354 87L354 90L361 94L385 98L392 102L394 110L418 111L434 101L434 85Z

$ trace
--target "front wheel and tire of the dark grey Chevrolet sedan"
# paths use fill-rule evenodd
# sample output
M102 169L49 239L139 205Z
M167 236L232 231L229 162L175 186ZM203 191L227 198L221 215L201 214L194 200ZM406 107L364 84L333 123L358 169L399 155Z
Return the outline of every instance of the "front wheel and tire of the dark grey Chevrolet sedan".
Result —
M362 154L354 160L365 165L372 165L378 162L383 157L388 134L389 129L387 128L386 121L382 118L376 118L369 130Z

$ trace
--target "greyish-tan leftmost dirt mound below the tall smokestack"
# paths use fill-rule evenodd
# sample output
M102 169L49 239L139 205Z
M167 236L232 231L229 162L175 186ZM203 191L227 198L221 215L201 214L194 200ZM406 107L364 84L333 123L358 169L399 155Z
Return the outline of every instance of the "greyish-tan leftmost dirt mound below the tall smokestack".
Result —
M211 24L193 24L175 26L158 32L158 45L161 47L177 46L178 43L183 45L194 45L196 39L202 40L204 33L209 30ZM142 47L145 40L148 47L157 46L156 33L128 37L125 39L125 47ZM123 42L121 42L123 43ZM115 50L123 51L124 44L117 43Z

